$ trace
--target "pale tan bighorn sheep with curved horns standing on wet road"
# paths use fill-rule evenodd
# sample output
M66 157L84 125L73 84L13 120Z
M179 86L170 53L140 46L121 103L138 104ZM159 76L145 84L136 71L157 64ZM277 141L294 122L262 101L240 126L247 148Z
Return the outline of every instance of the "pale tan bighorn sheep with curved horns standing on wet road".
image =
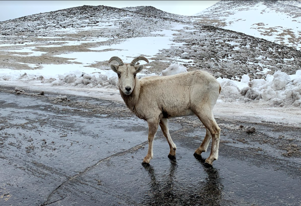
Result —
M153 140L160 125L170 147L168 156L175 156L177 147L173 143L169 130L168 118L197 115L206 127L206 136L195 150L200 155L206 152L212 137L211 153L206 163L212 164L218 158L220 128L213 117L213 106L219 97L221 86L216 79L205 71L185 72L171 76L148 76L141 79L136 74L143 65L136 65L139 60L148 63L145 57L136 57L130 64L124 64L119 57L111 57L111 69L118 75L118 87L126 106L140 119L148 123L148 152L143 164L153 158Z

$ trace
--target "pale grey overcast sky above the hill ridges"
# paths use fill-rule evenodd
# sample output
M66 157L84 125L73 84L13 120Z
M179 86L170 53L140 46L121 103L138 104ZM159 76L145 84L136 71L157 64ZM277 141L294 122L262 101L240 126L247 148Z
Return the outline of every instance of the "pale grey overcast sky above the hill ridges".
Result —
M216 2L219 1L0 1L0 21L82 5L153 6L173 14L193 15Z

